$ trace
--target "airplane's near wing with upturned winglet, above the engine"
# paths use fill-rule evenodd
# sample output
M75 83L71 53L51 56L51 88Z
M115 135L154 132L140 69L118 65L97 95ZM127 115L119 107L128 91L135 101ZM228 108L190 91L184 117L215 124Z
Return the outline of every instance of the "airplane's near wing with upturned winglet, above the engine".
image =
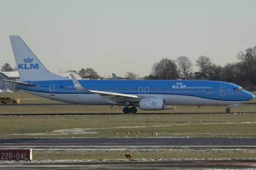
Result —
M74 75L70 74L70 77L72 78L72 81L73 81L76 89L79 91L97 93L100 95L109 95L109 97L106 97L106 98L112 98L112 97L128 97L128 98L136 98L136 99L141 98L137 95L128 95L128 94L124 94L124 93L113 93L113 92L108 92L108 91L88 90L88 89L85 89L84 87L82 87L82 85L77 81L77 79L74 77Z

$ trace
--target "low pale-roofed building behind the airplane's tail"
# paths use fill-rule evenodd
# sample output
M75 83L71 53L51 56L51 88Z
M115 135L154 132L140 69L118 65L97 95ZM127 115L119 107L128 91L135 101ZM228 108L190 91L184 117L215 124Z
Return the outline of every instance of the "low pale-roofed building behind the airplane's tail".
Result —
M52 71L52 73L56 75L60 75L63 77L70 78L70 74L73 74L76 79L81 80L82 77L75 73L74 71ZM1 79L6 79L6 80L11 80L11 81L17 81L17 79L20 79L18 71L0 71L0 80ZM18 91L16 85L4 81L0 81L0 89L10 89L11 91Z

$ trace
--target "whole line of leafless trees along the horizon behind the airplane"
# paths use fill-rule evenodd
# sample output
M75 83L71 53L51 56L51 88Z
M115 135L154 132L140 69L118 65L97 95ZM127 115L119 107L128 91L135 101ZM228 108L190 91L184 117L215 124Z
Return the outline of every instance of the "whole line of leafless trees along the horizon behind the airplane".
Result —
M236 83L242 87L256 85L256 46L237 53L238 62L226 63L224 66L212 63L210 57L201 55L194 63L187 56L176 59L162 58L154 63L149 75L143 79L171 80L171 79L206 79ZM196 66L196 69L195 67ZM1 71L16 71L9 63L2 66ZM196 71L195 71L196 70ZM92 68L82 68L78 71L82 78L102 79ZM140 75L127 71L119 79L135 79Z

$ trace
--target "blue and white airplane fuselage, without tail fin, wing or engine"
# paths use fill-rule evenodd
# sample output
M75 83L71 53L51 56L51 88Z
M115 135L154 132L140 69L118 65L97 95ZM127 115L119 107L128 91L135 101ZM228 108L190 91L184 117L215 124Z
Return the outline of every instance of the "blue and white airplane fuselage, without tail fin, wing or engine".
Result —
M80 80L79 82L89 90L163 98L166 105L232 105L244 103L252 99L253 96L238 85L221 81ZM113 105L99 94L76 90L72 80L29 81L28 83L35 83L36 86L18 86L18 88L41 97L66 103ZM237 90L239 88L240 90ZM122 103L114 103L114 105L122 105Z

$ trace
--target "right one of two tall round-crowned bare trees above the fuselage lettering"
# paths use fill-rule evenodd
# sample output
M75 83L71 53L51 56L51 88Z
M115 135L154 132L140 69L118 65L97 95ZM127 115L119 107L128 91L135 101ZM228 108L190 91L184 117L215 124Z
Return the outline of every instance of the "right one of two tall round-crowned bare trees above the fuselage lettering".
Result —
M206 78L206 70L211 65L212 61L209 57L206 57L204 55L201 55L196 60L196 66L199 67L200 73L202 75L202 79Z

